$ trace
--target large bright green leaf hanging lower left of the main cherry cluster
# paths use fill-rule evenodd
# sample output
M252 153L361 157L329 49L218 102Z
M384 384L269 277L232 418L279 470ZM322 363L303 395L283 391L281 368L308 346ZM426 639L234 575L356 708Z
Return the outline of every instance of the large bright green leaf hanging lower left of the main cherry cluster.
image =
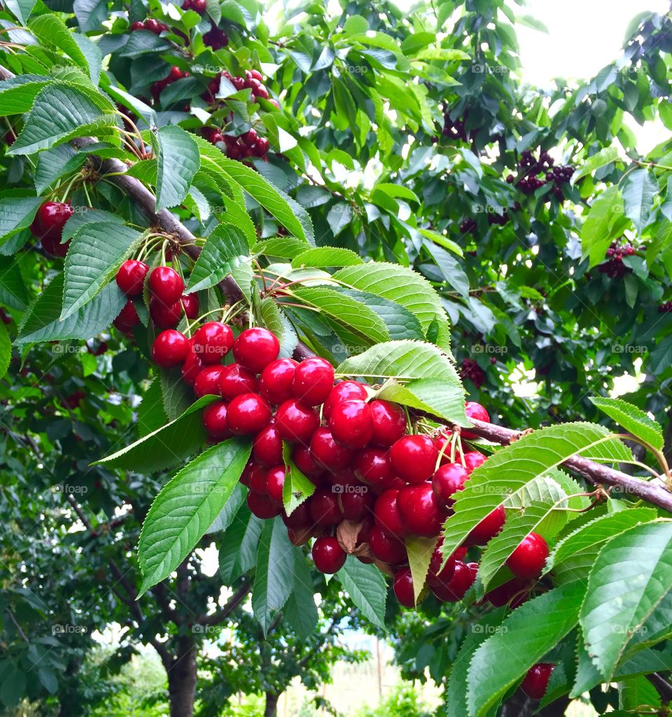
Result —
M193 550L233 493L250 452L251 442L242 438L208 448L156 496L138 543L140 595L167 578Z

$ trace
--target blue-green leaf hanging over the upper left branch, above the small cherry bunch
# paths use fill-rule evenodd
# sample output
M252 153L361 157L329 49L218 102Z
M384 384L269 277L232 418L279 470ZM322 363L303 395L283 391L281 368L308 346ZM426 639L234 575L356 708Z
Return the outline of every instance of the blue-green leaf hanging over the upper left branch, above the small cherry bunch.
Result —
M177 125L164 125L156 133L158 170L156 211L182 204L193 176L201 166L193 136Z

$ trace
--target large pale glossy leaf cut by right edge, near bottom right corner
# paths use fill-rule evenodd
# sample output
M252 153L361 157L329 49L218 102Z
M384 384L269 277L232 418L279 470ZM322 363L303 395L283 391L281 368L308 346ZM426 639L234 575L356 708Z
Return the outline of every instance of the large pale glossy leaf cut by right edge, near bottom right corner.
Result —
M671 587L672 522L630 528L600 551L588 576L581 627L592 661L607 680Z

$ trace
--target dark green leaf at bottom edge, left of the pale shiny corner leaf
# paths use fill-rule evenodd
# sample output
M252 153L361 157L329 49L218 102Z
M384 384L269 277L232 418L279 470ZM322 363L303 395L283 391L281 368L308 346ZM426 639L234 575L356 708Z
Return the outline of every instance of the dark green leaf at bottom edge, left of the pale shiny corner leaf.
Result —
M481 717L527 670L557 645L578 619L585 586L556 588L522 604L480 645L469 665L469 713ZM539 625L544 629L539 630Z

